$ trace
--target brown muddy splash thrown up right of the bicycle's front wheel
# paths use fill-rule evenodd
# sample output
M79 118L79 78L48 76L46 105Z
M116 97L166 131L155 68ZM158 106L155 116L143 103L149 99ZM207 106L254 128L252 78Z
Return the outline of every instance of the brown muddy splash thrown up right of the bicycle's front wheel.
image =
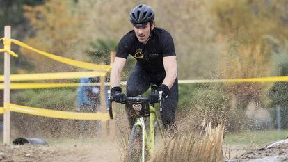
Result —
M184 133L166 140L150 161L223 161L223 134L223 124L212 128L210 123L200 133Z

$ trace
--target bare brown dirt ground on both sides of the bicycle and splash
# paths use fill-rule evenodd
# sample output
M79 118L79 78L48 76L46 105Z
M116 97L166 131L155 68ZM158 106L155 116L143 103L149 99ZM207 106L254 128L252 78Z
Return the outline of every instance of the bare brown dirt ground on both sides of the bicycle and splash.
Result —
M0 145L0 161L122 161L119 141L108 138L47 140L49 145ZM223 145L225 161L288 161L288 144L271 148ZM230 157L230 158L229 158Z

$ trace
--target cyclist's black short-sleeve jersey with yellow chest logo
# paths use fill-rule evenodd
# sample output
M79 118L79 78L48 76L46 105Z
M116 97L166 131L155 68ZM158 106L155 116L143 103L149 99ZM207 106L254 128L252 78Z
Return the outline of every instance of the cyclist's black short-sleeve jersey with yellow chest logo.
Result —
M118 44L116 57L127 59L129 54L151 74L165 72L163 57L176 55L173 38L168 31L161 28L153 29L146 44L138 41L134 31L124 35Z

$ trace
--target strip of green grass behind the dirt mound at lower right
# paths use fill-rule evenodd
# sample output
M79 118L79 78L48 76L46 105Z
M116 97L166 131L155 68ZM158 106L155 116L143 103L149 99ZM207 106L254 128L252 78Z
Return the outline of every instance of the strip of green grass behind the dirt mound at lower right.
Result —
M288 130L282 130L278 133L277 130L268 131L247 131L244 133L227 133L223 143L226 145L232 144L256 144L267 145L277 140L284 140L288 136Z

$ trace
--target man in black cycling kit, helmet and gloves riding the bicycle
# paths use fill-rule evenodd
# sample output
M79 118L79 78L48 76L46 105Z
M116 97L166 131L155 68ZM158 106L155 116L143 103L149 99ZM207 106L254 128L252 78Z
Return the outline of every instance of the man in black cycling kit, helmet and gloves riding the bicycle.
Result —
M127 97L142 95L151 83L157 84L158 91L163 91L164 97L161 120L166 130L174 132L177 128L175 110L178 104L178 80L173 38L168 31L155 26L154 11L145 4L131 10L130 22L133 30L120 40L111 70L111 97L115 102L125 102L126 95L120 88L120 75L130 54L137 63L127 80ZM154 103L159 95L150 95L149 99L150 103ZM130 128L134 122L135 118L129 117Z

